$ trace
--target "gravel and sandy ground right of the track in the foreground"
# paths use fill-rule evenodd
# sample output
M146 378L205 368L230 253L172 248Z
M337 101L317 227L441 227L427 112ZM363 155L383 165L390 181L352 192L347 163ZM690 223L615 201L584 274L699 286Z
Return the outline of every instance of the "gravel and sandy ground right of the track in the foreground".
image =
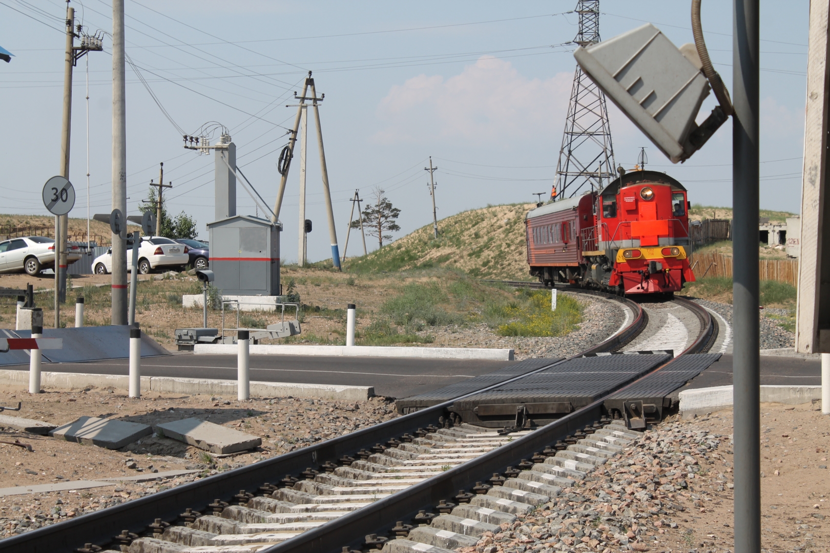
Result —
M762 551L830 550L830 420L811 405L761 405ZM734 551L732 411L677 415L623 454L464 553Z

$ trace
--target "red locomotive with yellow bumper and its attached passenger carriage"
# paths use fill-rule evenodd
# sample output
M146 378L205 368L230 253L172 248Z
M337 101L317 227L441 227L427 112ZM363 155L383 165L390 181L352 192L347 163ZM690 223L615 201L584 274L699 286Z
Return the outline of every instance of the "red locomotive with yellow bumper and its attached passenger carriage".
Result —
M530 274L620 294L673 293L695 281L686 188L662 172L621 173L600 192L527 213Z

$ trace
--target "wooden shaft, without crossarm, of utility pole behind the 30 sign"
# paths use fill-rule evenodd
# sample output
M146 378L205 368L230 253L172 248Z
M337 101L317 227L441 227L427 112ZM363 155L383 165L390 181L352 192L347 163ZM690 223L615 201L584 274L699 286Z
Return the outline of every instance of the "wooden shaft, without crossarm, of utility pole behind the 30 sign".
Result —
M69 145L72 121L72 68L75 66L75 8L66 7L66 63L63 70L63 121L61 129L61 177L69 178ZM66 301L66 236L69 234L69 216L58 216L61 240L55 236L55 274L60 303ZM56 312L57 313L57 312Z

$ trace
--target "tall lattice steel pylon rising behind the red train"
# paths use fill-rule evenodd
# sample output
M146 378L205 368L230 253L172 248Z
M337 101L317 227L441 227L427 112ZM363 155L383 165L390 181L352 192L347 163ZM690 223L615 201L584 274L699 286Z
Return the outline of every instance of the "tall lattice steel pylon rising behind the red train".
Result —
M574 42L579 46L598 42L599 0L579 0L575 11L579 32ZM602 188L616 177L614 167L605 95L577 65L551 199Z

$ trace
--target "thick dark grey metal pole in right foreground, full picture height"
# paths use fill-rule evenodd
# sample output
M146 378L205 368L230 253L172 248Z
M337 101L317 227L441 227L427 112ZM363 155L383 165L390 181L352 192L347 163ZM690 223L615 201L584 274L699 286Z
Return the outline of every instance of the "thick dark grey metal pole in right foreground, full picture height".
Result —
M758 274L759 0L735 0L732 128L735 553L761 551Z

